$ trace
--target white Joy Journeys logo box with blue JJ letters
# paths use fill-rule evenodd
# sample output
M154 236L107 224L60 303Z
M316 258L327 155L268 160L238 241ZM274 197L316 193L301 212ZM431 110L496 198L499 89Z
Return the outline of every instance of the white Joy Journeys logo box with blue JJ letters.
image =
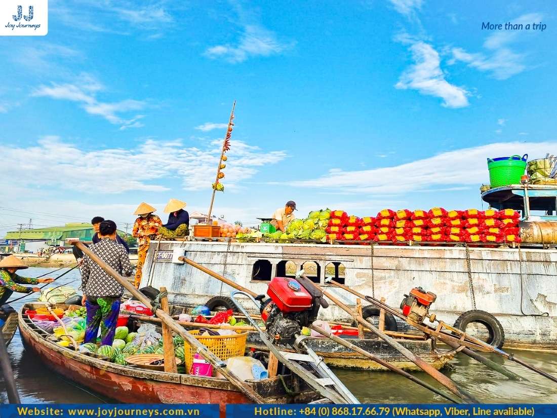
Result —
M48 0L34 0L30 4L0 0L0 24L2 36L44 36L48 32Z

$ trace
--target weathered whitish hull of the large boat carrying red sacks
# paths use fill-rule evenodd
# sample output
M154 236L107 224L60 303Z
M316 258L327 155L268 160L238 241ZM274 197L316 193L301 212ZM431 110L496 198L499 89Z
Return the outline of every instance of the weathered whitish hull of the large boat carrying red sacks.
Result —
M496 316L505 331L507 347L555 348L557 346L557 250L517 248L419 247L376 245L270 244L198 241L161 241L159 255L152 243L143 268L142 285L166 286L170 302L200 305L215 295L232 290L217 279L189 265L172 263L172 250L180 248L189 259L226 276L256 293L267 291L268 281L252 280L257 260L271 264L275 276L281 261L300 268L306 261L320 267L320 283L343 303L355 298L324 284L329 263L345 267L345 284L360 293L384 297L398 306L404 293L422 286L437 294L432 312L447 323L471 309ZM227 254L228 252L228 254ZM473 294L472 294L473 293ZM476 304L474 304L474 300ZM246 308L253 308L246 302ZM548 317L532 317L542 314ZM346 320L346 314L331 305L320 310L325 320Z

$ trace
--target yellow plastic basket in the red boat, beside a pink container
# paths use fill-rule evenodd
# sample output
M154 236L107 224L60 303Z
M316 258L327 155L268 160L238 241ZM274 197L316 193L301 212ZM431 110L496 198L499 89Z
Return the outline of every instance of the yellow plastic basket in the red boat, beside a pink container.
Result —
M246 351L247 332L240 332L231 336L199 336L198 330L188 331L197 341L206 346L209 351L221 360L231 357L241 357ZM196 349L184 342L184 361L185 370L191 370L193 364L193 356Z

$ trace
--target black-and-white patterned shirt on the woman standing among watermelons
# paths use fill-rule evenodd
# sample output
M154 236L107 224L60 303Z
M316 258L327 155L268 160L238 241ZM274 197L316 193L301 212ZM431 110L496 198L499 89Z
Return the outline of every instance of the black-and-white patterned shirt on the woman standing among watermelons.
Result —
M133 268L123 245L110 238L103 238L89 249L120 275L131 275ZM120 297L124 293L124 287L87 255L83 257L81 265L81 283L81 289L87 296Z

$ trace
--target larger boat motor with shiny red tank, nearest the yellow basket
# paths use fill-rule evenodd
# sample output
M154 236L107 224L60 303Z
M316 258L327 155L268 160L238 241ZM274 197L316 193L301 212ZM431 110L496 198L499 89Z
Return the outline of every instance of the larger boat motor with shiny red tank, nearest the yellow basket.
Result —
M270 298L261 304L261 318L267 334L281 344L293 343L302 327L317 319L319 308L329 307L323 292L301 276L275 277L269 283L267 294Z

